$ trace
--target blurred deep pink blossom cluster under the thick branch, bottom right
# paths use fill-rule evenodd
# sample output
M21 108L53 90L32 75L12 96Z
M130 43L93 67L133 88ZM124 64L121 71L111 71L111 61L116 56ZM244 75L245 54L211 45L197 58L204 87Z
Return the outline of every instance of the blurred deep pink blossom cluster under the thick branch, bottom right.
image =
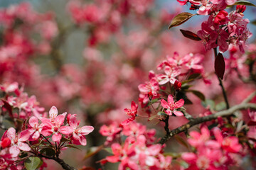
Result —
M219 128L213 128L215 139L210 138L210 131L206 126L201 133L192 131L188 143L195 147L196 152L182 154L182 159L188 162L188 169L228 169L232 165L240 164L242 145L238 137L223 136Z

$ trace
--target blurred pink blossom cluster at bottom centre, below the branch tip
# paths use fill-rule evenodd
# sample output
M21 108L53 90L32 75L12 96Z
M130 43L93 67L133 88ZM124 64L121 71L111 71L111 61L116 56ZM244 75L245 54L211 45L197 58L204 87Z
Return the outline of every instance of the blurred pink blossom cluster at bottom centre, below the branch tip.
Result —
M120 162L118 169L171 169L172 158L164 157L163 146L152 143L155 133L139 123L129 123L119 132L119 137L127 136L126 140L122 145L112 143L114 155L102 159L102 164Z

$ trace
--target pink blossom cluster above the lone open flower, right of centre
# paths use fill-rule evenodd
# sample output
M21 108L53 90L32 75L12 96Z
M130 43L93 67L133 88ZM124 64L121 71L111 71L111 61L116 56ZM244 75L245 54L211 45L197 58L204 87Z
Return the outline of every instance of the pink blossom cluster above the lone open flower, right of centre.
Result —
M178 55L178 52L174 52L174 56L167 55L166 59L157 67L158 70L162 70L164 73L155 74L153 71L150 71L150 81L139 84L139 101L142 103L142 106L151 101L151 99L162 96L161 90L166 89L166 84L171 84L176 90L179 90L181 89L181 81L186 79L184 75L204 74L202 66L203 55L201 54L193 55L190 53L181 57Z

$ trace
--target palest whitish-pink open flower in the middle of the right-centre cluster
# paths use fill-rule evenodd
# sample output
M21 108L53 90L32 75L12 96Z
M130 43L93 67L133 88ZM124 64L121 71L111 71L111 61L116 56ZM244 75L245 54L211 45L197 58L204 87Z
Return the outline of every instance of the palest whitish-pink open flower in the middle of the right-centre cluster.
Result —
M178 68L171 68L166 66L164 68L164 73L165 74L156 75L160 85L166 84L168 82L174 84L174 82L177 80L176 77L181 74L181 71Z

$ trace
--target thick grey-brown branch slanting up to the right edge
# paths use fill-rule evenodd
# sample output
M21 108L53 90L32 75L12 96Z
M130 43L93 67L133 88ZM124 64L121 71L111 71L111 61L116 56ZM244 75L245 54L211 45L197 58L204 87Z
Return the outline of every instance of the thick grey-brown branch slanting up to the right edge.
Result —
M161 140L159 141L159 143L164 144L174 135L184 132L184 131L188 130L189 128L193 127L194 125L198 125L200 123L214 120L218 117L225 117L228 115L232 115L235 111L239 111L239 110L247 109L247 108L256 109L256 104L255 103L240 103L239 105L233 106L232 108L229 108L228 110L225 110L225 111L220 111L218 113L200 117L200 118L194 118L194 119L190 120L188 123L186 123L185 125L181 125L180 127L176 128L174 130L171 130L169 132L169 135L166 134L164 137L162 137Z

